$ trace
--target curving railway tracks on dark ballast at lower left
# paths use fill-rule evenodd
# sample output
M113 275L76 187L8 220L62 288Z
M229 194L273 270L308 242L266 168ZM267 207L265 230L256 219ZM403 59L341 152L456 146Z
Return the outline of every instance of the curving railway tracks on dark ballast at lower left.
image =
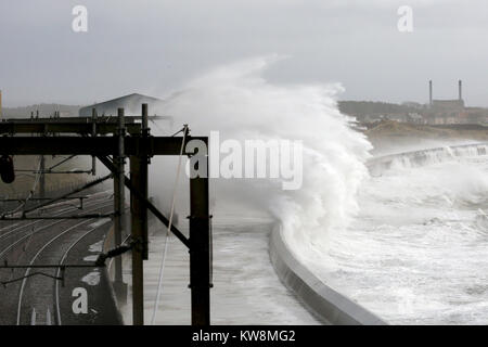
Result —
M72 216L81 213L77 207L59 204L47 209L46 215ZM60 210L60 208L62 208ZM108 194L97 194L88 198L82 213L98 211L110 213L113 202ZM59 265L65 264L72 253L76 253L86 239L103 237L102 224L97 219L72 220L61 219L54 222L46 220L34 222L17 222L9 227L2 227L0 231L0 260L9 260L10 265ZM33 229L35 228L35 229ZM82 261L82 258L77 262ZM89 268L88 268L89 269ZM79 275L80 271L66 270L65 277ZM42 274L33 275L33 268L0 271L2 281L20 279L0 287L0 324L62 324L63 293L60 281L60 269L51 268L41 271ZM72 273L74 272L74 273ZM79 279L79 278L78 278ZM72 281L74 282L74 281ZM67 295L64 295L66 297ZM66 304L66 303L64 303ZM70 306L69 306L70 309ZM52 317L52 313L54 317ZM44 317L44 319L42 319Z

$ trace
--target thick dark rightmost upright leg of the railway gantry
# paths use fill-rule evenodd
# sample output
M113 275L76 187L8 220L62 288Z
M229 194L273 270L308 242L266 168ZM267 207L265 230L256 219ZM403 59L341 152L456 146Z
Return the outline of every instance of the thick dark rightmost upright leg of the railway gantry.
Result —
M208 157L206 160L208 162ZM210 216L207 177L208 175L206 178L190 179L192 325L210 324Z

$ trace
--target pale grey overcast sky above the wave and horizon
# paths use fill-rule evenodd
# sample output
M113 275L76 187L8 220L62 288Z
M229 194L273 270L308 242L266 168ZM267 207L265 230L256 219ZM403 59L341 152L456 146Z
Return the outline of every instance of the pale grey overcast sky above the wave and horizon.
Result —
M88 9L88 33L72 9ZM397 10L413 9L413 33ZM343 100L488 106L486 0L1 0L5 106L162 95L209 67L284 54L275 82L341 82Z

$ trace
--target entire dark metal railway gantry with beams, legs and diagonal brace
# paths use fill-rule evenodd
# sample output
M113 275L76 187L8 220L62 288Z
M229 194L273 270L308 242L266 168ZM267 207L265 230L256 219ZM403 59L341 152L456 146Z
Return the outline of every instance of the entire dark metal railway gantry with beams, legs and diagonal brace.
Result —
M156 117L157 118L157 117ZM160 117L159 117L160 118ZM167 118L167 117L164 117ZM130 191L132 250L133 324L144 324L143 260L147 259L147 210L163 224L169 220L147 198L149 160L157 155L203 155L204 175L190 178L190 233L187 237L177 227L170 231L190 252L190 288L192 324L210 324L210 215L208 189L208 153L187 151L187 143L198 140L208 149L207 137L153 137L147 127L147 104L140 117L126 117L124 108L117 117L55 117L7 119L0 121L0 155L90 155L98 158L114 178L115 246L121 247L124 230L124 188ZM36 134L36 136L33 136ZM51 134L51 136L49 136ZM110 136L112 134L112 136ZM125 175L125 158L130 160L130 177ZM94 159L93 169L94 172ZM46 174L49 174L46 172ZM77 191L78 192L78 191ZM75 192L73 192L75 193ZM69 194L68 194L69 195ZM64 195L61 198L66 198ZM43 201L43 197L41 197ZM53 201L56 201L55 198ZM43 202L39 206L46 206ZM91 216L92 217L92 216ZM34 218L34 217L33 217ZM116 257L115 284L121 281L121 259Z

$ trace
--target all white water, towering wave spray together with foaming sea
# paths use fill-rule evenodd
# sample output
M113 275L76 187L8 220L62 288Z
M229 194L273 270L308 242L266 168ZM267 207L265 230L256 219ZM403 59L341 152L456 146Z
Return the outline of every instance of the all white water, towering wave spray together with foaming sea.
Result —
M300 190L283 191L277 180L213 180L215 218L232 206L243 214L267 211L283 223L300 260L393 322L487 317L488 240L478 209L486 207L488 176L476 159L461 159L474 153L445 149L427 154L423 167L407 157L369 178L371 145L337 110L342 87L272 83L264 73L274 61L252 59L211 70L165 98L158 111L177 125L189 123L195 134L218 130L222 139L303 141ZM168 200L176 162L153 163L151 191ZM177 210L183 215L188 184L181 187Z

